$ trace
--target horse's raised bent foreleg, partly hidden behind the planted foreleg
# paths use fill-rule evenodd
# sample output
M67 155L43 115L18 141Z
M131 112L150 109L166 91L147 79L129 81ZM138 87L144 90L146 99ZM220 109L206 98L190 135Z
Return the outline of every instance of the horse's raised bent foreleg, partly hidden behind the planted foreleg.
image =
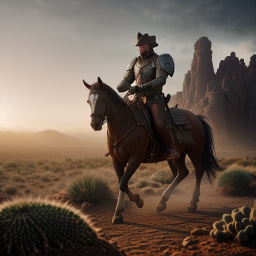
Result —
M112 160L112 165L113 165L113 167L114 167L115 173L116 173L116 175L117 175L117 177L118 177L118 181L119 181L119 183L120 183L120 180L121 180L122 175L123 175L123 173L124 173L125 164L119 162L119 161L116 160L116 159L113 159L113 160ZM142 207L143 207L143 203L144 203L144 202L143 202L143 199L141 199L141 198L139 197L139 194L133 194L133 193L130 191L128 185L127 185L127 188L125 189L125 193L127 194L127 196L128 196L128 198L129 198L130 201L135 202L136 205L137 205L139 208L142 208Z

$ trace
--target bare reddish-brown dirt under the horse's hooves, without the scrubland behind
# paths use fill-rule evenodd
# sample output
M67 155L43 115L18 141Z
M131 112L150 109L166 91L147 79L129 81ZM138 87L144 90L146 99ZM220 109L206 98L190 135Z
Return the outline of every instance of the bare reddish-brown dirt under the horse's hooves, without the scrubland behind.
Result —
M215 193L215 188L202 183L200 202L195 213L187 213L186 206L193 189L193 178L184 180L173 191L167 208L156 213L159 196L143 196L143 208L125 201L124 222L111 224L114 204L102 204L86 209L95 227L108 240L118 243L127 255L256 255L255 248L237 243L218 243L209 235L191 236L189 245L182 241L195 228L210 230L212 223L223 213L242 205L253 206L256 197L228 197Z

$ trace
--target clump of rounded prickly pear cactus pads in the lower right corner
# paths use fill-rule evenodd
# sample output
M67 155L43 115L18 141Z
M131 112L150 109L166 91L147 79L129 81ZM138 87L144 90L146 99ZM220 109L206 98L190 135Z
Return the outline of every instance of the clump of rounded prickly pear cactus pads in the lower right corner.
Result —
M212 224L210 236L219 241L232 239L241 245L251 241L256 227L256 208L243 206L223 214L222 219Z

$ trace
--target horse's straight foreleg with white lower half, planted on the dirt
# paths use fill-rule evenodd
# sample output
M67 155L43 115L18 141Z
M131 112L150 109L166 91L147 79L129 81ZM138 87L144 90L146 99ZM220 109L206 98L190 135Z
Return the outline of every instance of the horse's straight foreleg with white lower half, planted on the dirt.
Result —
M127 191L127 184L132 174L135 172L139 166L140 161L136 157L130 157L125 172L123 173L120 180L120 190L118 195L117 204L115 207L114 216L112 218L112 223L120 223L123 221L122 212L124 211L124 193Z

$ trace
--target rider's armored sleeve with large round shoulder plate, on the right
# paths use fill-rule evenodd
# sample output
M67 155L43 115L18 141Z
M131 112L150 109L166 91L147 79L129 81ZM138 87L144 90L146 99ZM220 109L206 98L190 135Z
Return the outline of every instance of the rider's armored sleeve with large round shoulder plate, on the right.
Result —
M141 84L139 91L147 91L161 87L165 84L168 74L173 75L174 62L170 54L161 54L155 61L155 78L149 82Z

